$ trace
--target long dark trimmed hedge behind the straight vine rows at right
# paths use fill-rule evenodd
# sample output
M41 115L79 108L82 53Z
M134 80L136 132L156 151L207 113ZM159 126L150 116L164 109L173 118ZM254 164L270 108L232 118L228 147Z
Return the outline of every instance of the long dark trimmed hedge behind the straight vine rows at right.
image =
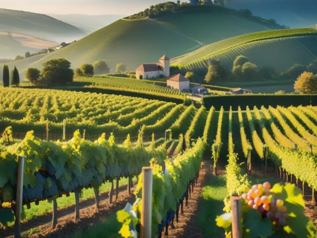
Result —
M307 105L317 105L317 94L265 94L265 95L256 95L256 94L245 94L245 95L225 95L225 96L204 96L203 105L206 109L210 109L212 106L216 110L220 110L221 106L225 110L229 110L232 106L232 110L238 110L238 106L241 109L245 109L246 106L253 108L254 106L260 108L262 105L264 107L272 106L276 107L277 105L289 107L293 106L307 106Z

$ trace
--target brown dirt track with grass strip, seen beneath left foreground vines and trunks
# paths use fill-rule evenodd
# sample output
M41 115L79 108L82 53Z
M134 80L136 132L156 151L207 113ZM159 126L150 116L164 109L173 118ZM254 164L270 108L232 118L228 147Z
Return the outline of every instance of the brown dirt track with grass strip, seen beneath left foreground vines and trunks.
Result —
M136 185L137 182L134 182L133 184ZM132 190L134 190L134 188L135 186L132 188ZM29 231L30 229L38 228L37 230L41 230L41 232L39 234L35 234L35 236L32 235L30 237L61 237L59 235L62 235L63 237L64 231L62 230L65 230L65 229L72 230L73 227L75 227L74 229L77 230L79 226L82 228L84 224L91 223L93 219L97 219L96 217L100 218L100 216L104 217L104 216L110 215L112 212L124 208L124 206L126 205L126 202L131 202L133 199L135 199L135 196L133 195L133 193L131 193L131 195L128 195L127 185L122 185L119 187L117 201L114 201L115 189L113 193L114 202L112 204L108 203L108 198L109 198L109 191L100 194L100 209L98 213L96 212L94 197L80 202L79 204L80 220L79 221L74 221L74 207L75 207L74 204L66 208L58 208L57 209L58 224L55 229L51 228L53 214L52 214L52 211L49 211L43 216L38 216L33 218L30 221L26 221L22 223L21 235L23 237L23 234L25 235L25 233L27 233L27 231ZM88 219L91 219L91 220L88 220ZM83 224L81 224L81 221L83 222ZM67 225L67 228L65 228L66 225ZM68 226L70 228L68 228ZM52 232L52 235L50 234L51 232ZM74 230L67 234L69 235L73 233L74 233ZM0 237L13 238L14 227L1 230Z

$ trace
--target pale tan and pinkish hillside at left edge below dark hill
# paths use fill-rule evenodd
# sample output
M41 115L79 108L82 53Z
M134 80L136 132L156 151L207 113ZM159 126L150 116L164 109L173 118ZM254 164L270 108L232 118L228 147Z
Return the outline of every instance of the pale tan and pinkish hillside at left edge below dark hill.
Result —
M32 54L58 45L34 36L0 31L0 59L15 59L17 55L24 56L27 51Z

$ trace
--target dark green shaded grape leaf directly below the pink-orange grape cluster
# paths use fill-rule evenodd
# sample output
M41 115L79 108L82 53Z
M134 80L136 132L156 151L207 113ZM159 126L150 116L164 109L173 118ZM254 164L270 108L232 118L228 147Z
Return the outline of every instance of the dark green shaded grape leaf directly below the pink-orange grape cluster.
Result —
M262 218L258 210L249 209L244 215L244 219L244 227L247 230L248 238L264 238L273 234L272 222L268 218Z

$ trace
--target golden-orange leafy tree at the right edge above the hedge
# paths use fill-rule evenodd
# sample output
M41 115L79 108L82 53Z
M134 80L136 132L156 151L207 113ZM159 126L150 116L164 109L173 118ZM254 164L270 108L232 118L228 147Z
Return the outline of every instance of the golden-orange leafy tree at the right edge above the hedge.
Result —
M317 76L313 73L302 73L295 81L294 89L300 93L317 93Z

